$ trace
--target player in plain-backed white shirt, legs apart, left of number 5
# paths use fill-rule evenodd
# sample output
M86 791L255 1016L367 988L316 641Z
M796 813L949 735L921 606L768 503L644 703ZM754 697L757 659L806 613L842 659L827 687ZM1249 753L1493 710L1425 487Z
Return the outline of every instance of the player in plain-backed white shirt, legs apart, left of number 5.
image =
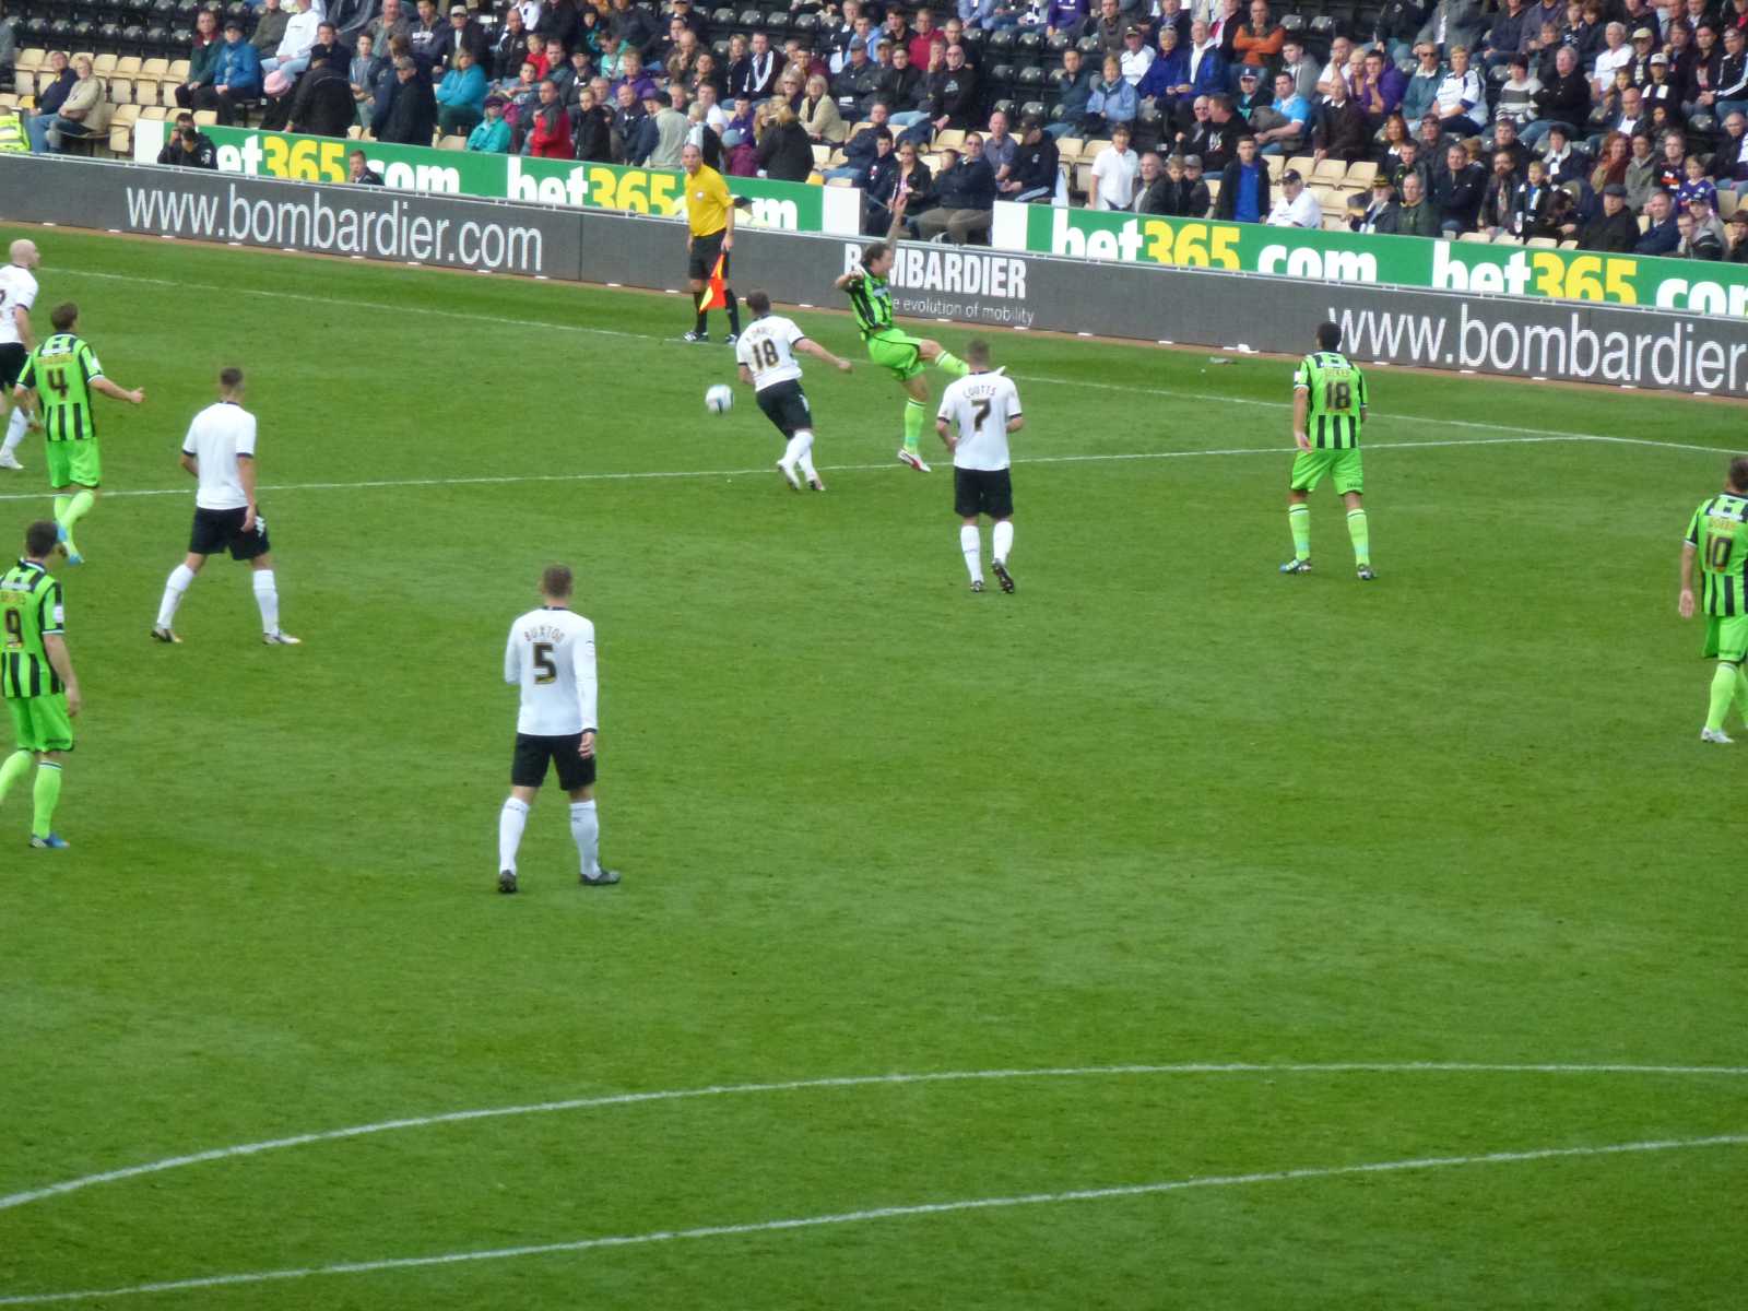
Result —
M206 558L229 551L231 559L246 559L253 570L260 640L269 647L299 645L299 638L280 629L273 547L267 544L267 521L255 505L255 416L243 409L241 369L218 374L218 404L203 409L189 425L189 435L182 442L182 467L199 479L194 531L189 535L187 559L170 572L164 584L152 636L157 642L182 642L171 628L177 607Z

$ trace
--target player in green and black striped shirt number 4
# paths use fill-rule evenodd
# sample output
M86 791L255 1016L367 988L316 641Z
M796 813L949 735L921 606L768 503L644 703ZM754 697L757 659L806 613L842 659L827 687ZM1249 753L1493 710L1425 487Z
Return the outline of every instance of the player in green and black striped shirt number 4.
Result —
M66 545L66 563L82 565L84 556L73 545L73 524L98 503L98 484L103 482L91 393L101 392L138 406L145 400L145 392L128 392L103 376L103 365L77 332L79 306L72 301L54 306L49 322L54 336L45 337L24 360L24 372L12 395L21 404L31 393L37 397L49 460L49 489L54 493L54 523ZM70 491L72 488L77 491Z

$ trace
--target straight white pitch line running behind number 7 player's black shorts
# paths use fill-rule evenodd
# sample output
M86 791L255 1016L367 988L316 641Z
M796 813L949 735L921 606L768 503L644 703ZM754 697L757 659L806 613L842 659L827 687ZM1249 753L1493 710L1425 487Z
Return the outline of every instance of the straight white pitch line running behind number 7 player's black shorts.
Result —
M1269 402L1273 404L1273 402ZM1367 442L1369 451L1414 451L1419 447L1447 446L1545 446L1559 442L1626 442L1633 446L1666 446L1682 451L1706 451L1708 454L1727 454L1722 447L1711 446L1676 446L1675 442L1654 442L1636 437L1591 437L1585 434L1547 434L1533 437L1453 437L1432 442ZM1038 454L1016 458L1016 465L1087 465L1133 460L1194 460L1231 454L1276 454L1288 456L1290 449L1280 446L1229 446L1203 451L1126 451L1112 454ZM876 465L820 465L822 474L869 474L898 472L904 468L895 460L883 460ZM528 482L640 482L650 479L713 479L713 477L767 477L773 465L759 468L652 468L628 474L463 474L460 477L385 477L360 479L355 482L280 482L262 484L260 491L378 491L393 488L495 488L517 486ZM9 491L0 493L0 502L42 500L47 493ZM105 500L117 496L189 496L192 488L124 488L103 493Z

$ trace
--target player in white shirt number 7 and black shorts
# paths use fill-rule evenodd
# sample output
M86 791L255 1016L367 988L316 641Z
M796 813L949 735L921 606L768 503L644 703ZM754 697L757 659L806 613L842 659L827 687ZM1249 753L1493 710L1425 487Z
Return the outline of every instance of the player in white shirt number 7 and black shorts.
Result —
M977 517L995 519L989 568L1002 591L1014 591L1007 558L1014 551L1014 484L1007 435L1026 427L1014 379L989 371L989 343L965 346L970 372L940 395L935 432L953 451L953 509L960 516L960 551L972 575L972 591L982 591L982 537Z

